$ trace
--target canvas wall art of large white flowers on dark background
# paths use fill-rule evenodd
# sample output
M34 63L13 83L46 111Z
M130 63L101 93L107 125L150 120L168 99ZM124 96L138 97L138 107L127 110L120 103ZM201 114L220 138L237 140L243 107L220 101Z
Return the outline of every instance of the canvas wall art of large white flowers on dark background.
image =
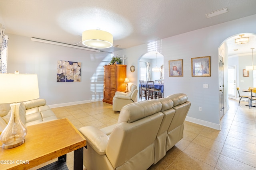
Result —
M81 63L58 60L57 82L80 82Z

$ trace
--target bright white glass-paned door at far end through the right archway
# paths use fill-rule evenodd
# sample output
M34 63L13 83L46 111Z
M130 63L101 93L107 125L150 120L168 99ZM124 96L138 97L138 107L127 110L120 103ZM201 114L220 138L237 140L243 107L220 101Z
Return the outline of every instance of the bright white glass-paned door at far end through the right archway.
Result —
M228 67L228 98L236 99L236 66Z

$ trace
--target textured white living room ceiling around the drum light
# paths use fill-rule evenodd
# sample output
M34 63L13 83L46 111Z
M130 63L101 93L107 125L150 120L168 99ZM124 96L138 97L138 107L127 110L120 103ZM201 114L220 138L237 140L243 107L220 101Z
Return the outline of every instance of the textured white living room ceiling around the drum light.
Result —
M6 33L67 44L87 29L108 31L117 51L256 14L256 0L0 0ZM205 14L227 8L212 18ZM249 48L250 49L250 48Z

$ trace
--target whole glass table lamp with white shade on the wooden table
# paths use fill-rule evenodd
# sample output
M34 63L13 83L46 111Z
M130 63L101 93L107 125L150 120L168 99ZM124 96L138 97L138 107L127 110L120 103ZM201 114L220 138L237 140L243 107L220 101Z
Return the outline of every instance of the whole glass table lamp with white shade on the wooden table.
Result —
M37 74L0 74L0 104L10 104L11 117L0 135L4 149L18 147L25 142L26 126L20 120L20 103L39 98Z

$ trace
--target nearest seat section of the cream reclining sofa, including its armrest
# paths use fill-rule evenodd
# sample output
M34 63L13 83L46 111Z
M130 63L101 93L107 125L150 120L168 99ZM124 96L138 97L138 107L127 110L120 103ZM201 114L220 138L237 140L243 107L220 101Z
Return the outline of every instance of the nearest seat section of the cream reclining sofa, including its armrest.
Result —
M86 138L88 170L142 170L154 164L155 139L164 114L157 100L124 106L111 135L93 126L81 127Z

